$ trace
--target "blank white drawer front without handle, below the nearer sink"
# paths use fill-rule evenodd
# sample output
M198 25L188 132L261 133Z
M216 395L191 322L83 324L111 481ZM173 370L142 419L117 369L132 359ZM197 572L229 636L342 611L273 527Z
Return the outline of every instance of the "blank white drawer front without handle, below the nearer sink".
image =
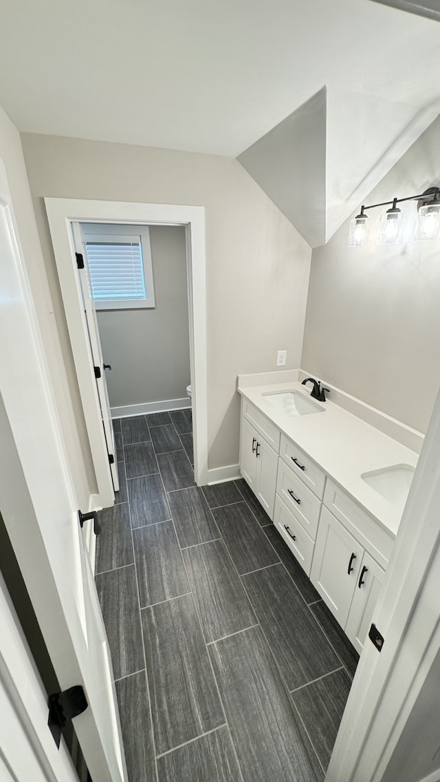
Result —
M394 538L379 526L363 508L352 500L339 486L328 479L324 493L324 505L339 519L348 532L369 551L380 567L387 568Z

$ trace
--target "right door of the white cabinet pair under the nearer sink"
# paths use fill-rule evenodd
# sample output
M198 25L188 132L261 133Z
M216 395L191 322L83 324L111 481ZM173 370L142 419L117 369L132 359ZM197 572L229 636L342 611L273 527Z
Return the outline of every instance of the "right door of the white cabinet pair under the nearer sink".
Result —
M345 626L345 633L352 641L355 649L359 651L359 655L368 630L370 630L374 607L377 603L380 587L384 583L384 578L384 570L377 565L377 562L366 551L362 558L355 594L353 594L352 605Z

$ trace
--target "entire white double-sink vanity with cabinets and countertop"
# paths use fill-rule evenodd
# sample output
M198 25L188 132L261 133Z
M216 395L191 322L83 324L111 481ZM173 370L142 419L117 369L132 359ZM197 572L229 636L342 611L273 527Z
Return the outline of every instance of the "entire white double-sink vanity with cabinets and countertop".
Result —
M360 653L417 465L402 442L422 437L337 389L312 399L301 375L239 376L240 472Z

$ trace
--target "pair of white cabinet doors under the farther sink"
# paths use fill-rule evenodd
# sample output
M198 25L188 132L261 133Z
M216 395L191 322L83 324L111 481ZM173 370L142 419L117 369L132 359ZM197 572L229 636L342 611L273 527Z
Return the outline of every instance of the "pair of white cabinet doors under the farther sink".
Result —
M276 490L278 454L247 418L241 421L240 472L270 518Z

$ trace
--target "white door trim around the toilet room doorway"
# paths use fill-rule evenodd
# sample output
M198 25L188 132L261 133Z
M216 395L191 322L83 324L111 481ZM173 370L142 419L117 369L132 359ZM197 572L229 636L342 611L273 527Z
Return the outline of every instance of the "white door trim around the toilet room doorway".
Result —
M182 225L186 229L186 270L189 304L189 361L193 406L194 477L207 483L207 334L204 206L45 198L49 228L60 276L67 328L74 355L85 424L96 471L98 494L94 507L113 504L110 466L106 454L89 357L86 324L81 307L78 269L70 223L100 222Z

